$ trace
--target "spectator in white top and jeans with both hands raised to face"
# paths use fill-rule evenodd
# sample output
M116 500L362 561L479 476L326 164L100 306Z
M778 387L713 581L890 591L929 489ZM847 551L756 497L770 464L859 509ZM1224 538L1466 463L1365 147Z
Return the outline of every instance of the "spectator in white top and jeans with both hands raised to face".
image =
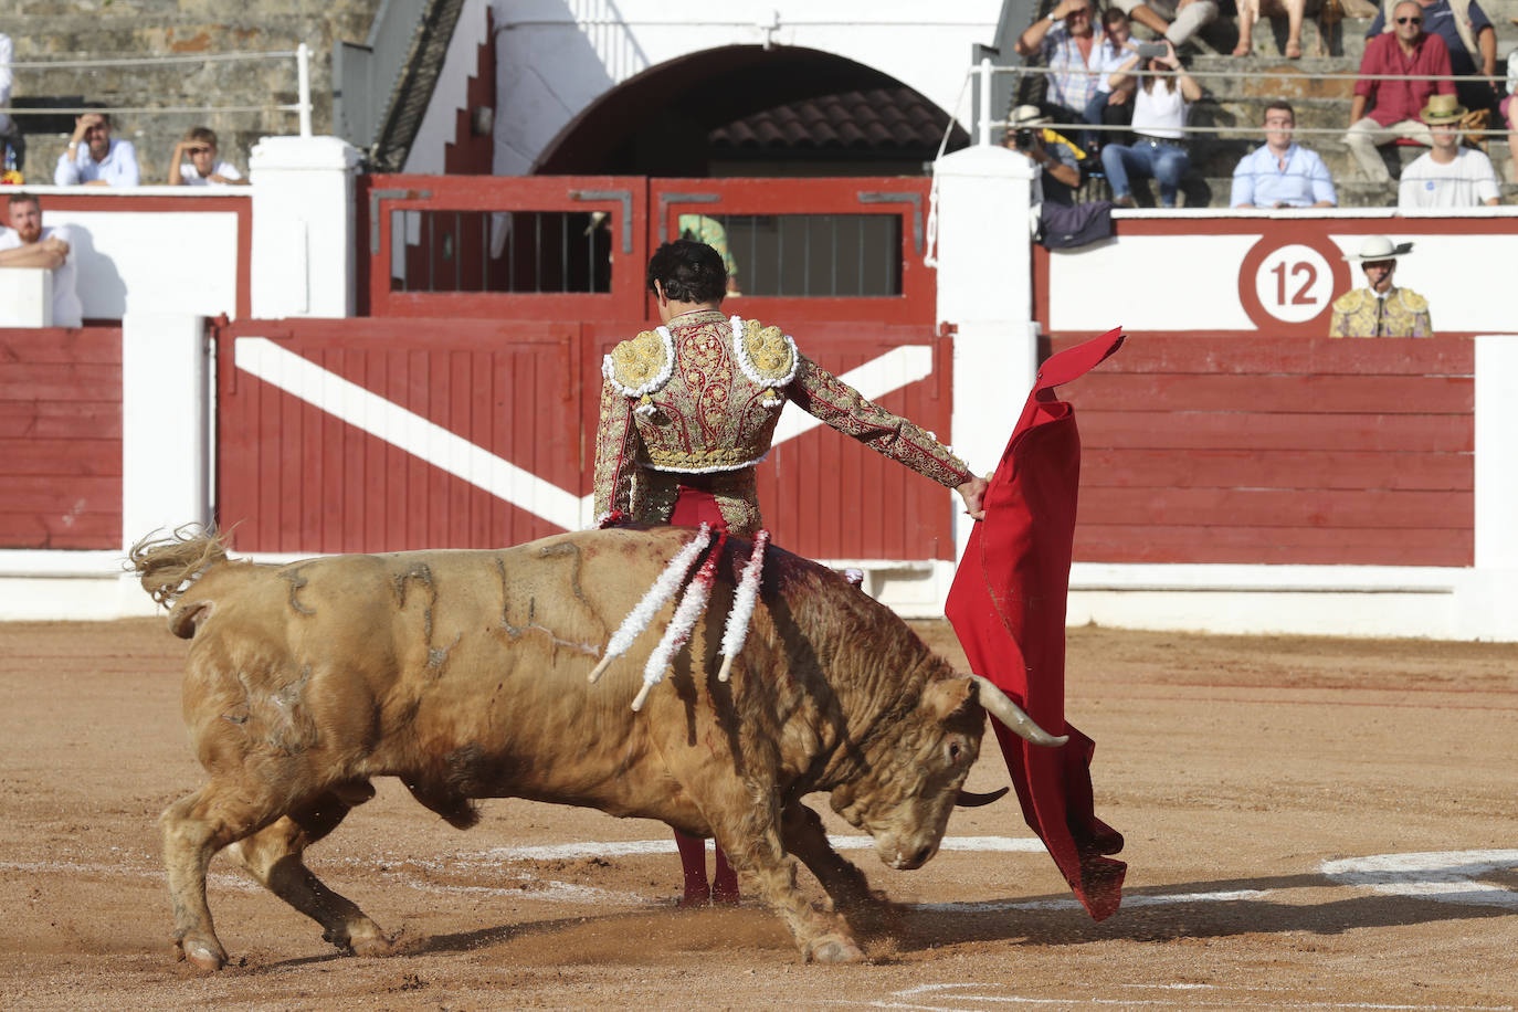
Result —
M1186 153L1186 114L1192 103L1202 97L1201 86L1181 67L1175 46L1166 39L1166 55L1145 59L1134 53L1110 77L1113 88L1122 86L1129 76L1138 76L1134 93L1134 138L1132 144L1108 144L1102 149L1102 168L1113 187L1113 203L1119 208L1134 206L1128 178L1152 176L1160 182L1160 203L1173 208L1181 179L1192 167ZM1155 83L1155 68L1173 70L1176 76L1163 77Z

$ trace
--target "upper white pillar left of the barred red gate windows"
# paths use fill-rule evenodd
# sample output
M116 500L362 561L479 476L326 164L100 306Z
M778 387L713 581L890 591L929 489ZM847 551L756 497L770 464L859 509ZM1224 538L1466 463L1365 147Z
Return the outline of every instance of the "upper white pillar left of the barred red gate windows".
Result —
M354 314L358 150L335 137L266 137L247 159L255 317Z

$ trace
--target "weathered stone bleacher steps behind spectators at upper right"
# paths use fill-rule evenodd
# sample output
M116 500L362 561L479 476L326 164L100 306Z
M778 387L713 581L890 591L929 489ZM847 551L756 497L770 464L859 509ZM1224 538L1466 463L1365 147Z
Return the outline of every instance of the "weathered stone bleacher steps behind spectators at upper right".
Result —
M1507 53L1518 49L1518 26L1509 17L1518 15L1518 0L1482 0L1497 29L1497 73L1506 73ZM1286 41L1286 20L1255 26L1254 52L1249 56L1231 56L1237 42L1237 21L1230 12L1207 27L1198 39L1196 52L1189 58L1189 70L1204 76L1198 79L1205 97L1192 108L1193 126L1242 126L1252 134L1196 135L1192 141L1192 174L1183 187L1184 206L1228 206L1233 170L1239 159L1263 143L1258 124L1264 118L1264 106L1275 99L1286 99L1296 111L1298 143L1318 152L1333 174L1339 191L1339 206L1389 206L1397 203L1397 185L1368 182L1343 144L1342 130L1348 126L1350 100L1354 82L1310 79L1307 73L1354 73L1365 52L1365 32L1369 20L1346 18L1333 26L1331 38L1322 39L1330 56L1318 56L1319 32L1315 18L1309 17L1302 29L1302 59L1284 59L1281 49ZM1145 35L1138 29L1138 35ZM1309 129L1331 129L1334 134L1304 134ZM1504 129L1494 123L1494 129ZM1425 149L1387 146L1383 158L1389 159L1392 174L1401 165L1413 161ZM1491 138L1486 147L1503 181L1503 202L1518 200L1518 184L1513 184L1513 159L1506 138ZM1134 194L1140 203L1152 203L1152 196L1142 185Z

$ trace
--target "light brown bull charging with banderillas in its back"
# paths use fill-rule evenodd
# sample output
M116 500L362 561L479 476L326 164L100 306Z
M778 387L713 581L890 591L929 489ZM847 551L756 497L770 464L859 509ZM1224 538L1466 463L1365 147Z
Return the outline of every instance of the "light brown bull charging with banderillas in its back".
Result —
M288 566L229 561L208 537L134 548L143 586L173 602L168 628L193 639L184 718L211 778L162 815L181 956L226 962L205 900L206 865L225 847L328 941L389 951L380 927L302 862L373 795L369 780L389 775L460 828L478 819L475 798L519 797L715 836L808 959L861 959L844 918L858 927L880 901L802 797L830 792L882 862L917 868L938 850L985 709L1031 740L1063 739L990 683L956 677L841 577L779 549L732 680L720 681L742 542L723 549L706 614L633 713L671 607L598 684L586 675L689 537L586 531L504 551ZM842 918L803 898L788 854Z

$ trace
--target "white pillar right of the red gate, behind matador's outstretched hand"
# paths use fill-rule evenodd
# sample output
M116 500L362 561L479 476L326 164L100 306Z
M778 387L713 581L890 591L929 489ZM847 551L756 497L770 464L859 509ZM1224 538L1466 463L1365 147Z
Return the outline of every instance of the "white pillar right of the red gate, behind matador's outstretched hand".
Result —
M938 320L953 343L953 448L988 473L1037 372L1032 306L1032 162L976 146L934 165L938 178ZM956 516L961 516L956 510ZM961 517L962 519L962 517ZM956 554L972 523L955 523Z

